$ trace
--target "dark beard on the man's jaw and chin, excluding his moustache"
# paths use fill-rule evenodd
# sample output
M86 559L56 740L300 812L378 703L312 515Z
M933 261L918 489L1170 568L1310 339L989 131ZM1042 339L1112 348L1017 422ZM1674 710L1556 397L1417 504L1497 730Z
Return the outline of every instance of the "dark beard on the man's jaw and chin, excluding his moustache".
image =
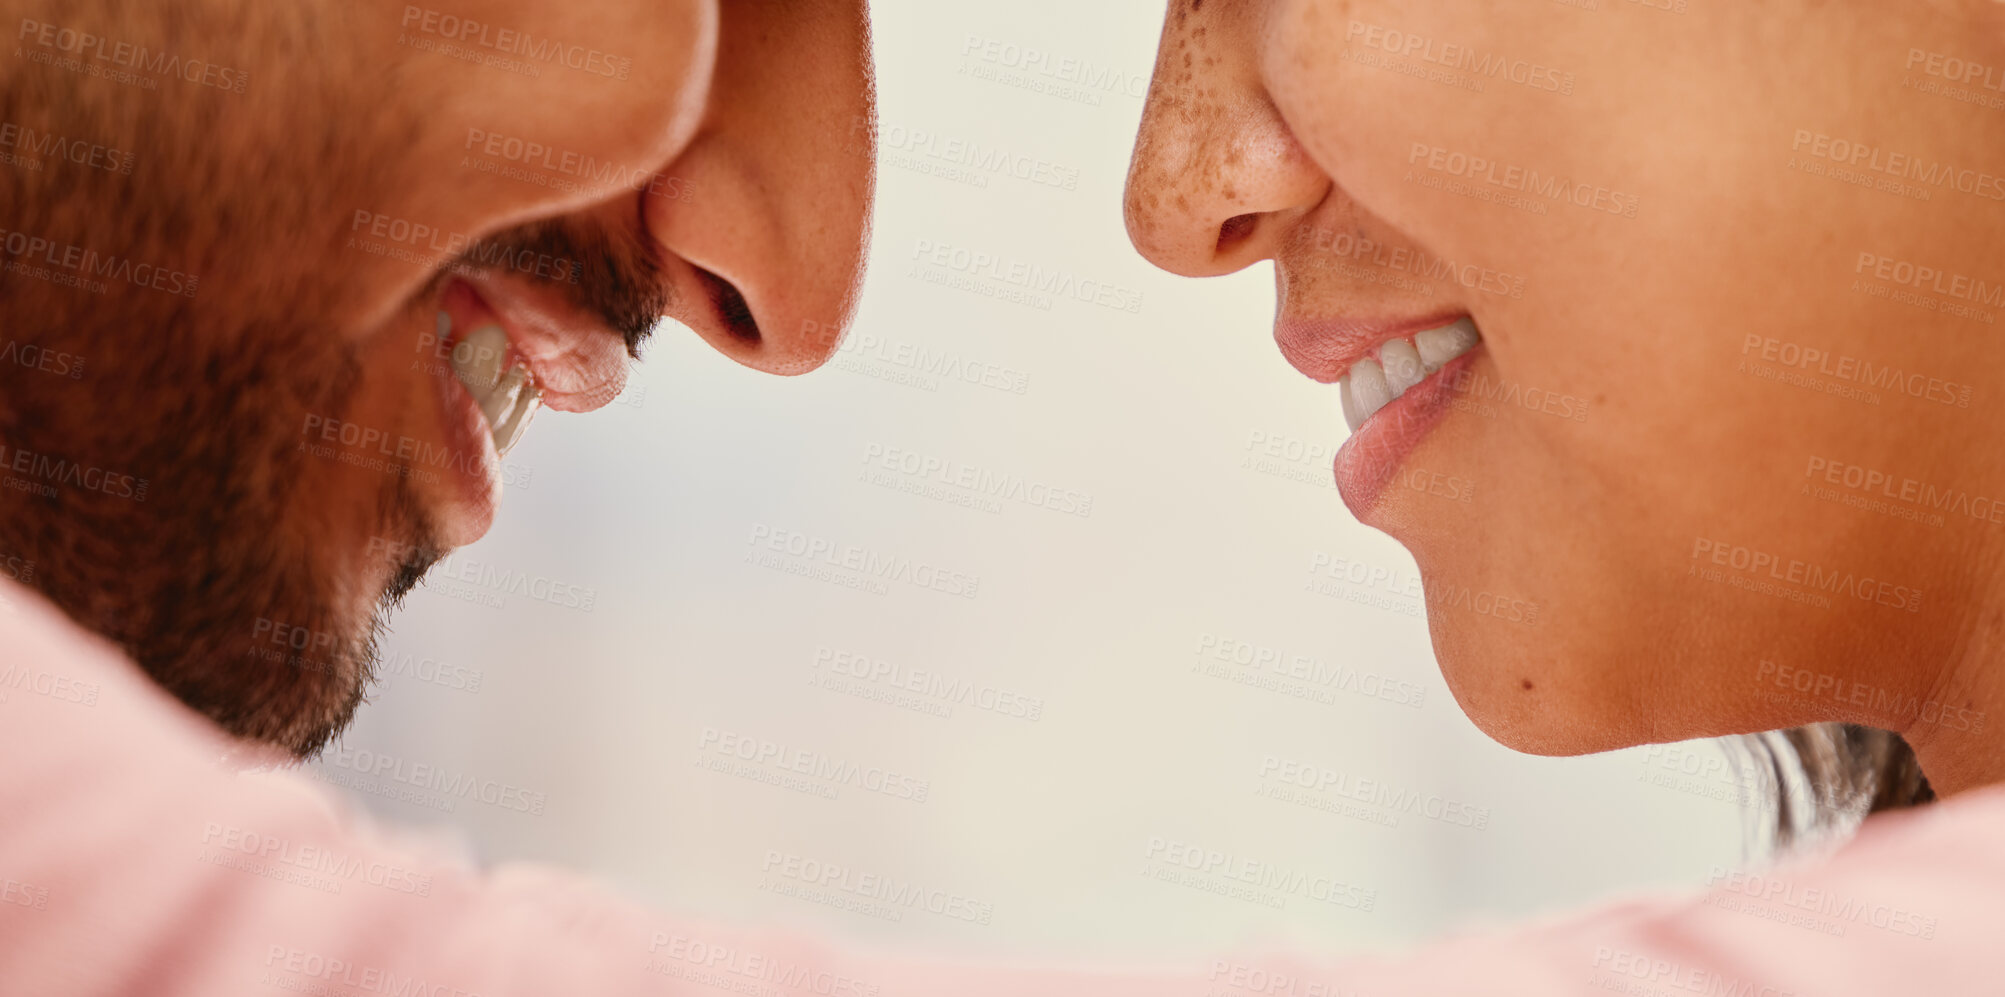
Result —
M52 602L188 706L313 754L361 702L375 626L335 618L325 552L293 540L285 512L307 479L301 419L343 411L359 357L329 329L215 337L192 309L120 305L106 309L116 331L70 325L40 343L82 357L86 381L6 373L0 443L12 459L98 467L144 491L8 489L0 546L34 560ZM375 504L385 532L427 532L403 477L387 475ZM311 640L253 640L275 628Z

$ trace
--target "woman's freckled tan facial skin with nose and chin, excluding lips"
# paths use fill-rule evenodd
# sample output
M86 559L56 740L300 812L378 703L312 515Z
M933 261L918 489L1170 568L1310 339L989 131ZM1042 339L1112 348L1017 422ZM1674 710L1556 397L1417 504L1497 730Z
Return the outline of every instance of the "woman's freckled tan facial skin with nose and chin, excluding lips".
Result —
M1947 82L1915 50L2005 66L2001 38L1987 2L1175 0L1127 225L1181 275L1273 261L1277 323L1472 315L1474 383L1580 403L1554 413L1468 389L1408 465L1470 481L1476 500L1391 487L1353 510L1418 560L1442 672L1490 736L1576 754L1853 720L1903 732L1957 792L2005 778L2005 528L1987 506L1901 491L2005 493L2005 307L1903 287L1861 255L2005 281L2005 187L1977 181L2005 173L2001 110L1903 84ZM1504 68L1480 90L1426 76L1462 58ZM1817 134L1983 187L1921 199L1845 183ZM1434 150L1500 167L1458 173ZM1887 181L1871 162L1853 171ZM1510 167L1606 189L1612 211L1512 189ZM1343 257L1357 239L1508 273L1522 293ZM1925 397L1790 367L1764 355L1770 341L1790 359L1827 351L1827 371L1853 357L1925 375ZM1893 483L1847 487L1843 469L1823 477L1831 465ZM1736 570L1732 548L1778 566ZM1907 596L1827 594L1790 580L1790 562ZM1444 592L1536 604L1536 622Z

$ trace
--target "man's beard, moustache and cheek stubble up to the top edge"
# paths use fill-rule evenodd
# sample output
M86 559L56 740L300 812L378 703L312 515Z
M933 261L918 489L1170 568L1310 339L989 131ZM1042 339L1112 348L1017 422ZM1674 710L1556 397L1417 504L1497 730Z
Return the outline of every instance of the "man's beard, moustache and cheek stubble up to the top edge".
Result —
M205 20L203 4L90 0L64 14L158 50L231 52L237 64L279 50L321 56L319 72L287 88L231 94L219 122L194 104L0 64L0 120L120 136L142 164L0 171L0 229L200 275L198 293L180 297L0 273L0 339L84 363L78 379L0 363L0 477L22 479L0 481L0 564L32 562L22 574L34 588L225 730L311 756L363 702L383 612L443 554L409 475L341 475L345 465L303 445L307 415L361 415L351 409L373 375L393 373L371 375L357 329L333 319L381 315L369 295L387 293L361 287L353 273L367 267L337 247L353 207L435 179L433 164L409 160L411 136L435 122L395 98L395 72L357 62L353 46L319 48L339 36L329 34L341 28L337 6L241 8ZM515 255L497 243L577 261L553 287L630 353L668 309L638 211L511 229L455 265ZM437 289L435 279L407 305L429 317ZM12 469L22 453L30 471ZM76 465L92 475L36 473ZM98 487L106 471L120 487ZM333 477L347 489L329 493ZM381 550L395 552L391 564Z

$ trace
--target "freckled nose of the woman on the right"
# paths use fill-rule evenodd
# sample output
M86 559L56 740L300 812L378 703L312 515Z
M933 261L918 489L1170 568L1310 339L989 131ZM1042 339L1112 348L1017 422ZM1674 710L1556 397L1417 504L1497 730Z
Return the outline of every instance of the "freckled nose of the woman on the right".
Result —
M1157 267L1213 277L1271 259L1329 177L1259 78L1259 4L1173 4L1129 162L1129 241Z

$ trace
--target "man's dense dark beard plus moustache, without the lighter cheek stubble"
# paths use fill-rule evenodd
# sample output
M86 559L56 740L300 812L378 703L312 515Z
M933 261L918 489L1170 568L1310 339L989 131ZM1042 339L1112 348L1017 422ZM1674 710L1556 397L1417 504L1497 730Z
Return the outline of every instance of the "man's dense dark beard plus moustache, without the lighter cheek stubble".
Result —
M579 261L577 283L557 287L638 349L668 305L642 235L541 223L467 259L505 247ZM219 335L217 315L142 295L24 337L84 357L86 381L0 369L8 459L102 467L144 479L142 497L0 489L0 556L36 562L44 596L225 730L313 756L365 700L383 616L445 550L407 473L379 475L369 516L315 506L327 461L301 427L309 413L347 421L365 383L343 331L255 321ZM361 536L325 528L363 522ZM387 586L357 592L357 566L387 570Z

